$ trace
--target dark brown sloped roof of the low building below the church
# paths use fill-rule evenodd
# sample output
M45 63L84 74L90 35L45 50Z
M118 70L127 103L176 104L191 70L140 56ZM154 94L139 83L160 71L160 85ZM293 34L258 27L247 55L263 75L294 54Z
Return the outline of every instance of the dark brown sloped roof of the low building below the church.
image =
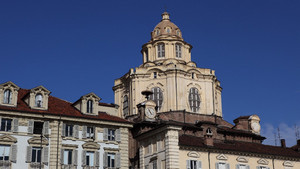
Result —
M300 153L291 148L282 148L278 146L264 145L260 143L242 142L242 141L221 141L214 140L213 146L206 146L204 138L181 135L179 137L180 146L190 146L198 148L208 148L224 151L246 152L254 154L275 155L300 158Z

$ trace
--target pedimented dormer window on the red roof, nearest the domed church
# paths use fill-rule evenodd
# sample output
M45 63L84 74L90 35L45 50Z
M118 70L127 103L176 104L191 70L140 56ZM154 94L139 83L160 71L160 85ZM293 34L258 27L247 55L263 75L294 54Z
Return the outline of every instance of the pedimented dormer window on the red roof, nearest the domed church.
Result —
M89 93L73 103L73 106L83 114L98 115L98 105L100 100L101 98L95 93Z

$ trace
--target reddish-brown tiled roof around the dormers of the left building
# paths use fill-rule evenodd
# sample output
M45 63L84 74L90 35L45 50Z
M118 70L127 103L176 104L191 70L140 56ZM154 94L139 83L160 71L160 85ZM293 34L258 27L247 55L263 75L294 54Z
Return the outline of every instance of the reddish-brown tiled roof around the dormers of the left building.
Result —
M72 103L53 96L49 96L48 98L47 110L32 109L23 100L23 98L27 94L29 94L29 92L30 90L20 89L18 91L17 107L0 105L0 110L29 112L29 113L38 113L38 114L50 114L50 115L57 115L57 116L61 115L61 116L68 116L68 117L75 117L75 118L86 118L86 119L113 121L113 122L121 122L121 123L131 123L125 119L122 119L117 116L109 115L105 112L99 112L98 115L82 114L79 110L77 110L75 107L72 106ZM106 103L100 103L100 105L109 106L109 104Z

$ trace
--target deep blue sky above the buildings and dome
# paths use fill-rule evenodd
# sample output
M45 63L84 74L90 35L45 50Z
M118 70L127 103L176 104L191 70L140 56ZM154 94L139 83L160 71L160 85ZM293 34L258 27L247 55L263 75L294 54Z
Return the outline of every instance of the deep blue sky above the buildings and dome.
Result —
M295 144L300 126L300 1L1 1L0 83L44 85L74 102L112 86L142 63L141 46L166 6L193 45L198 67L216 70L224 119L258 114L274 144L280 127Z

